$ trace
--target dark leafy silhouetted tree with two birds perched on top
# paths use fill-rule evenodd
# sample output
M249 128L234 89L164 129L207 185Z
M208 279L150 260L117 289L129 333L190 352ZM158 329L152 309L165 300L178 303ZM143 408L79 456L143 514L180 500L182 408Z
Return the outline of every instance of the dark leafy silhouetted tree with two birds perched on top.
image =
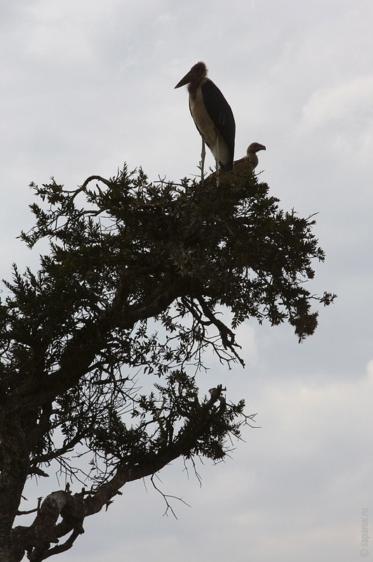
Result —
M279 209L255 176L202 188L149 183L125 166L76 190L32 187L41 202L21 238L49 251L36 273L13 266L0 308L2 562L69 549L125 483L177 457L224 458L252 417L221 381L200 396L203 353L243 364L234 330L247 318L286 320L303 339L317 325L312 304L334 298L305 285L324 260L313 218ZM56 462L65 490L14 526L27 478Z

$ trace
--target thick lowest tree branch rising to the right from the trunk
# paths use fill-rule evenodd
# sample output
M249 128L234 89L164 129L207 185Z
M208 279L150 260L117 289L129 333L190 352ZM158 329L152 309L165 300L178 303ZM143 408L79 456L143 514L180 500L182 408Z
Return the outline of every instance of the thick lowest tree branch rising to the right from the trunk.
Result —
M13 532L13 542L17 540L28 551L30 562L41 562L72 547L74 541L83 533L83 520L87 516L101 511L104 505L109 505L115 495L120 494L123 485L146 476L151 476L160 471L166 464L180 456L189 457L198 439L208 431L208 428L222 417L225 411L225 400L222 398L222 385L210 390L210 399L202 405L194 404L194 410L186 422L184 429L179 432L175 440L165 450L155 455L145 455L141 459L128 459L120 462L114 476L97 490L71 495L67 491L52 492L44 499L39 512L30 528L16 527ZM215 410L214 404L220 401L221 405ZM88 497L85 498L85 496ZM172 508L171 508L172 510ZM62 521L57 523L59 517ZM56 547L50 544L57 543L60 537L72 532L69 539Z

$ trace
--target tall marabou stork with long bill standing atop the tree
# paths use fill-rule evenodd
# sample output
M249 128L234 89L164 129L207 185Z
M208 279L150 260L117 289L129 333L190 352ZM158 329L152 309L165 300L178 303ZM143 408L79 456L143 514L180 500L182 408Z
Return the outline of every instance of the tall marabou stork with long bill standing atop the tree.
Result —
M201 183L203 183L205 143L215 158L218 181L219 165L224 171L232 169L236 135L236 123L231 106L207 74L205 63L197 63L175 86L179 88L188 84L191 117L202 137Z

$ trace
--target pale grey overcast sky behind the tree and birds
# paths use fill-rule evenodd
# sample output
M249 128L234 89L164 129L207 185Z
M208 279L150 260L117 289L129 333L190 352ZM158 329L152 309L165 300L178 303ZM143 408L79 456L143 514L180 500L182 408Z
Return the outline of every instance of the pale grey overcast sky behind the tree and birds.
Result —
M252 321L238 332L245 370L208 360L202 391L223 383L261 429L199 466L202 488L181 462L161 473L191 506L173 504L177 521L149 482L131 483L56 560L359 561L362 509L373 556L372 30L372 0L0 1L1 277L36 263L16 240L30 181L74 188L125 161L154 181L198 174L174 86L204 60L236 117L236 158L263 143L281 207L318 212L327 257L310 289L339 295L304 344Z

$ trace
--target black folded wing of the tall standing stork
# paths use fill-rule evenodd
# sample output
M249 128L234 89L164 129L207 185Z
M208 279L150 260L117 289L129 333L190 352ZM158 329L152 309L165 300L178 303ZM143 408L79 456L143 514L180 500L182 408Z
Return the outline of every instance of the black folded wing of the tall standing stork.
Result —
M234 121L231 106L224 98L219 88L207 79L201 86L203 103L214 122L217 130L224 138L229 152L231 153L231 164L226 166L226 171L232 169L234 158L234 140L236 137L236 123Z

